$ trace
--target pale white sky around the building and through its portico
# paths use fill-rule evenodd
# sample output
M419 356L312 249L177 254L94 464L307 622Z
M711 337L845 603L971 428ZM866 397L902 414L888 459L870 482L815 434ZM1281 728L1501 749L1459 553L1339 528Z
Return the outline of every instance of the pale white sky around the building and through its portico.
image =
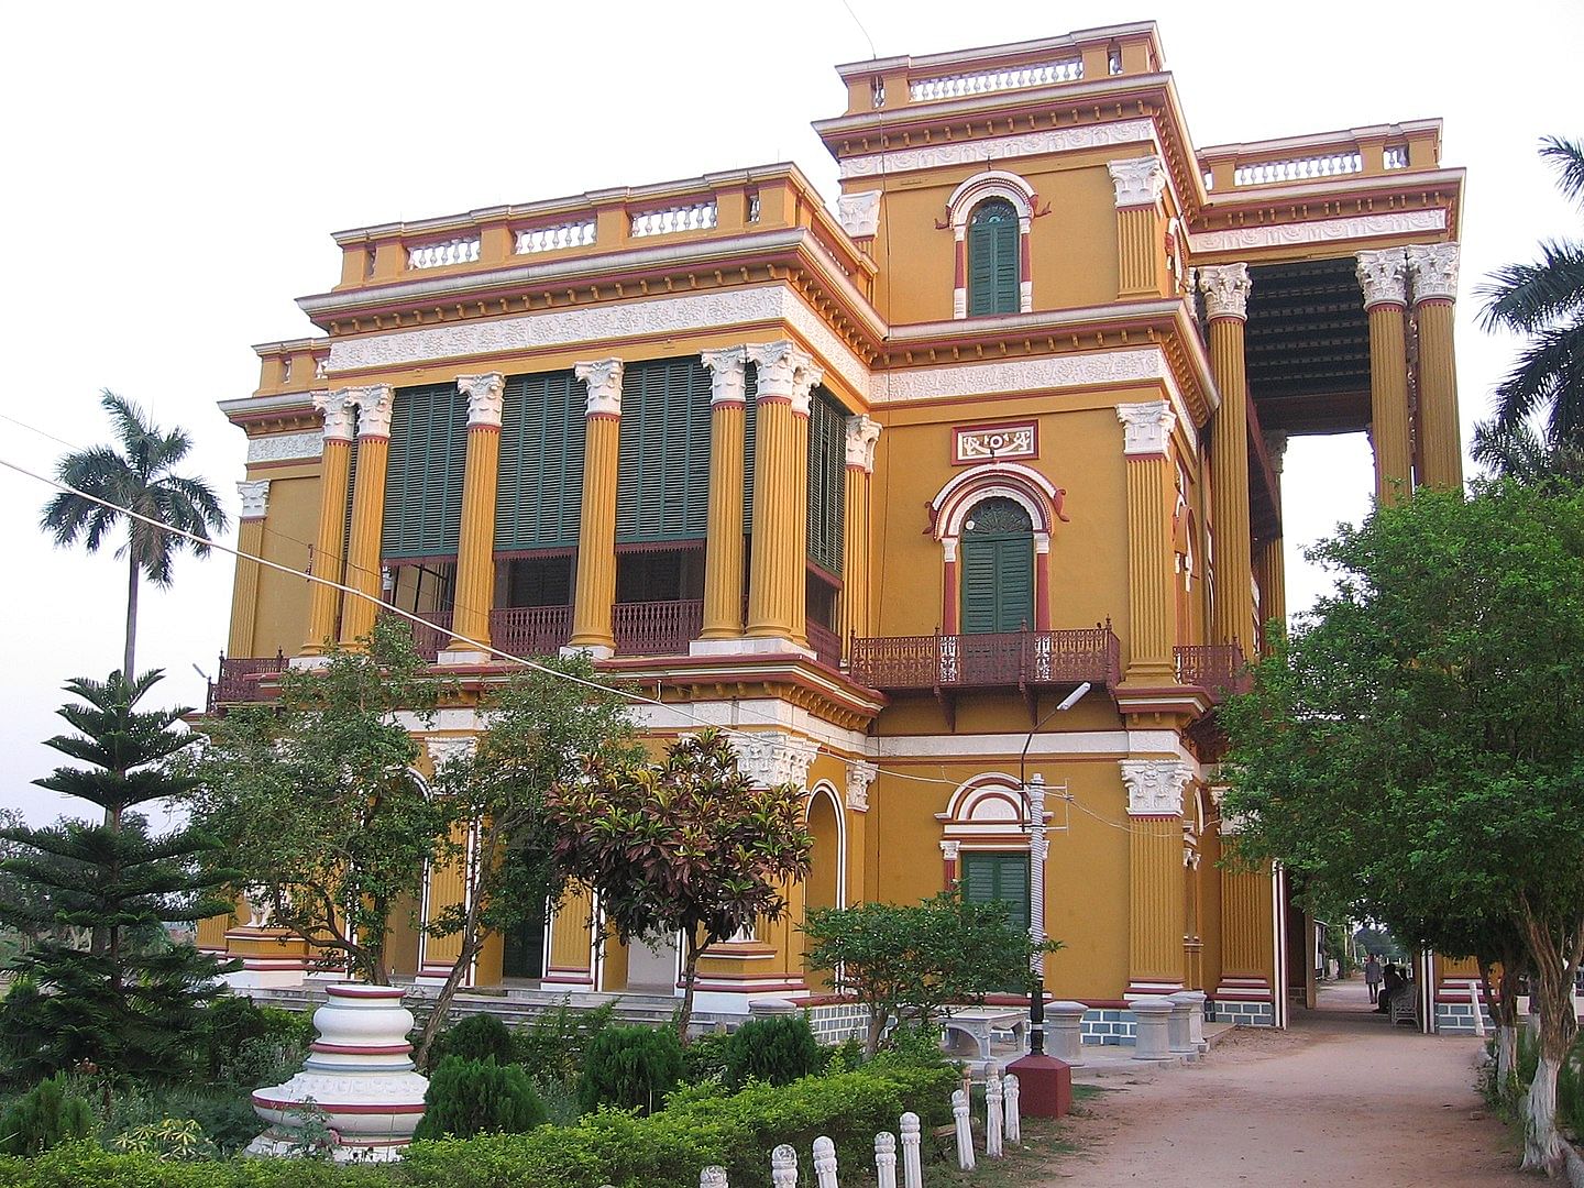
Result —
M1584 136L1576 0L1513 0L1478 19L1462 3L1346 5L1324 21L1202 0L847 3L13 6L0 463L48 474L108 440L109 388L188 431L187 472L222 494L234 543L244 439L215 402L257 386L250 344L318 333L293 301L334 285L333 231L781 160L833 201L809 122L843 111L832 67L871 54L1153 19L1201 147L1443 117L1441 160L1468 169L1465 442L1516 348L1476 326L1475 287L1538 239L1578 233L1535 152L1544 135ZM1299 439L1283 485L1300 610L1326 588L1300 550L1367 512L1369 447ZM109 548L57 550L38 531L49 494L0 467L0 805L40 824L71 808L30 786L60 759L40 741L63 725L60 686L119 667L125 613ZM228 556L184 554L171 589L144 589L138 667L166 673L150 705L203 703L231 577Z

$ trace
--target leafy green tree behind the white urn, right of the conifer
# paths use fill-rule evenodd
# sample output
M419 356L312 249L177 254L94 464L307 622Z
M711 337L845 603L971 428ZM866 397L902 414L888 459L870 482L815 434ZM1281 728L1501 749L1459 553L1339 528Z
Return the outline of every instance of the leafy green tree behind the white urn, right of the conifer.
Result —
M447 809L413 770L402 721L432 724L442 683L396 619L361 643L282 673L279 705L212 725L193 814L277 925L385 985L391 917L418 903L426 863L445 852Z

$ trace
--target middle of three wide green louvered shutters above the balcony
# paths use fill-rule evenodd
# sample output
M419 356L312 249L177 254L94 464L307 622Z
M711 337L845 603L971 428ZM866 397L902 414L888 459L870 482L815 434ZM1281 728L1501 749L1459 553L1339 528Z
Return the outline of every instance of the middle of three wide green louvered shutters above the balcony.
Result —
M575 548L583 515L583 383L570 371L512 375L501 410L501 553Z

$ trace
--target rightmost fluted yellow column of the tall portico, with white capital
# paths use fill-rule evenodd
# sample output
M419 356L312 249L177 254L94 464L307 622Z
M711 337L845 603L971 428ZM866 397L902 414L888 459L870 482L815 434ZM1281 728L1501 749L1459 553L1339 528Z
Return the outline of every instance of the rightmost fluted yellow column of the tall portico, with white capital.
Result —
M1457 244L1408 249L1413 310L1419 322L1419 450L1424 485L1459 489L1464 447L1457 436L1457 364L1453 358L1453 301Z

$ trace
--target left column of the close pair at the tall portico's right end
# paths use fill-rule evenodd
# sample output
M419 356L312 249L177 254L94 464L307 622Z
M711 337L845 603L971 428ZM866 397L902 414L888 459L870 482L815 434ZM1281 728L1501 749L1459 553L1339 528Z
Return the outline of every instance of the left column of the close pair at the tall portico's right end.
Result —
M1359 252L1359 285L1370 318L1370 442L1375 447L1375 497L1392 504L1413 489L1408 431L1408 353L1403 310L1408 306L1408 258L1400 247Z

